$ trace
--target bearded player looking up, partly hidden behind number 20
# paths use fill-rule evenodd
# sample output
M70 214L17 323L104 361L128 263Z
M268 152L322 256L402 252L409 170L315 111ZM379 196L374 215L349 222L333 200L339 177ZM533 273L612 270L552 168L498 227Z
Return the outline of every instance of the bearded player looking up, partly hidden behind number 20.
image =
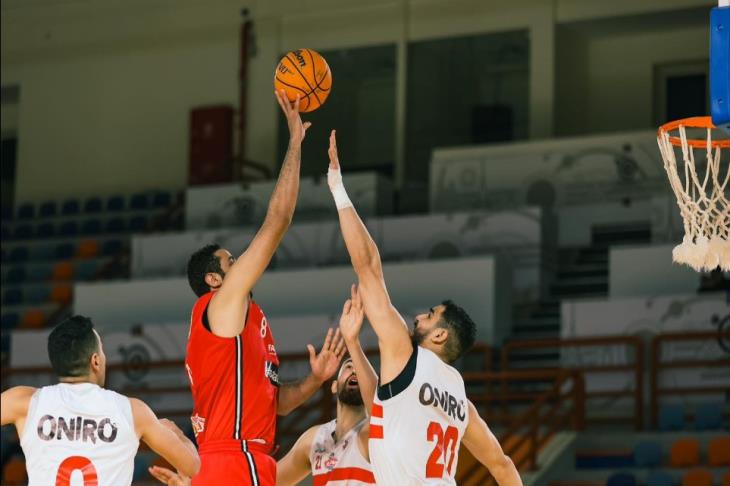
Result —
M366 410L368 404L372 405L378 378L359 345L363 318L362 302L353 287L352 299L345 303L340 317L340 330L353 357L345 360L337 380L332 382L337 418L311 427L299 437L277 464L277 486L298 484L309 474L315 486L375 484L369 462ZM355 362L362 372L355 372ZM190 484L190 479L163 467L151 467L150 474L168 486Z

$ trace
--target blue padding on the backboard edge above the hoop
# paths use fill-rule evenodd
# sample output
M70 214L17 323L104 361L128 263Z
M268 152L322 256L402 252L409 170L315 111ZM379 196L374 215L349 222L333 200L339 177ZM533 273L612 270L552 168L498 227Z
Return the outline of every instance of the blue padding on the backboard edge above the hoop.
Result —
M730 133L730 7L710 13L710 107L712 122Z

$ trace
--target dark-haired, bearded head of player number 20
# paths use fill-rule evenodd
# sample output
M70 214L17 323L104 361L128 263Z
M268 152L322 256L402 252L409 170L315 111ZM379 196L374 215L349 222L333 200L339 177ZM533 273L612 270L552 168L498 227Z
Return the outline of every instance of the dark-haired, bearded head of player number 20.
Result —
M416 316L411 340L453 363L474 344L476 325L464 309L445 300L428 313Z

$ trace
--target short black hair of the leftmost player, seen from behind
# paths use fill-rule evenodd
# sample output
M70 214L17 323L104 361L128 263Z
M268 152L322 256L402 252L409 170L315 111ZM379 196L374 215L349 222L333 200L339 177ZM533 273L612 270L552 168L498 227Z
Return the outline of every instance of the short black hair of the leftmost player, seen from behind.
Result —
M59 377L89 374L89 360L98 351L94 323L88 317L71 316L48 335L48 358Z

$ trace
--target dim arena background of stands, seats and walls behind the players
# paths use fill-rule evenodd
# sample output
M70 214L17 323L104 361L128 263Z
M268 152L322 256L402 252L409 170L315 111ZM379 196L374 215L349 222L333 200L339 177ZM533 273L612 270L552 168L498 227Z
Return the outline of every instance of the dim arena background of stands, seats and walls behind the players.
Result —
M302 114L293 223L253 290L282 380L356 281L327 188L336 129L406 322L453 299L477 323L457 368L525 485L730 485L730 272L672 261L687 226L657 144L711 114L717 1L0 5L3 390L53 383L50 330L89 316L107 388L194 438L187 259L256 234L287 149L274 69L309 48L332 90ZM377 369L367 324L361 340ZM279 418L276 457L334 413L326 383ZM141 447L133 484L163 463ZM465 450L456 480L496 484ZM2 484L26 482L3 427Z

